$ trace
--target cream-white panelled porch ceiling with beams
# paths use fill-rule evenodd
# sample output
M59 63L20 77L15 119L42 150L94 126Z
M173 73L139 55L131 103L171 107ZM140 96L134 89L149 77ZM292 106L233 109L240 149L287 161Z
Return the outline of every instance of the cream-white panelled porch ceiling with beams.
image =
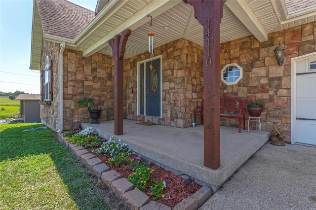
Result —
M280 9L280 3L274 0L228 0L220 25L220 42L248 35L265 41L269 33L316 20L313 11L293 21L284 20ZM148 14L153 16L152 27ZM164 29L164 25L169 25L170 29ZM126 29L131 29L132 33L128 37L124 58L148 50L149 31L155 32L154 48L182 37L203 45L203 27L194 17L194 9L189 3L182 0L110 0L86 30L66 46L82 51L85 57L95 52L112 55L108 41Z

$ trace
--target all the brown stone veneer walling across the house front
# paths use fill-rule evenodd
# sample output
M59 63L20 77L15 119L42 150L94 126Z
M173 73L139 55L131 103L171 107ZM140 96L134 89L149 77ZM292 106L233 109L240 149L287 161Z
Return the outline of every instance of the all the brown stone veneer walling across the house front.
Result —
M268 35L260 43L247 36L221 44L220 64L237 63L243 68L243 78L236 85L221 82L221 97L244 99L248 103L264 104L262 130L272 130L272 124L283 129L287 141L291 127L291 58L316 51L316 22ZM286 62L276 65L274 49L278 43L286 47ZM58 130L59 44L43 41L42 52L53 59L54 98L52 105L41 105L41 119ZM185 128L191 126L194 108L203 97L203 48L184 38L159 46L152 56L162 55L162 118L146 117L161 125ZM46 54L42 53L42 67ZM124 117L145 120L137 116L137 62L149 59L148 52L124 60ZM82 52L64 51L64 130L73 129L75 119L90 122L86 106L76 101L92 98L103 109L101 121L114 119L114 62L112 56L96 53L88 58ZM220 78L219 78L220 79ZM132 90L134 90L132 92ZM134 108L135 111L132 111ZM246 113L248 114L248 113ZM246 115L247 116L247 115ZM225 126L236 126L235 119L221 119ZM258 125L257 125L258 127ZM255 129L254 122L251 129Z

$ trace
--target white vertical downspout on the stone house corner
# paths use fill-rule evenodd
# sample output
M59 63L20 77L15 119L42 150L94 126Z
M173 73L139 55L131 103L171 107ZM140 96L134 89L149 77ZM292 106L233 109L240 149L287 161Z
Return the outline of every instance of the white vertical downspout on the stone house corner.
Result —
M61 133L63 131L63 53L66 47L66 43L63 41L60 44L60 52L59 52L59 130L57 133Z

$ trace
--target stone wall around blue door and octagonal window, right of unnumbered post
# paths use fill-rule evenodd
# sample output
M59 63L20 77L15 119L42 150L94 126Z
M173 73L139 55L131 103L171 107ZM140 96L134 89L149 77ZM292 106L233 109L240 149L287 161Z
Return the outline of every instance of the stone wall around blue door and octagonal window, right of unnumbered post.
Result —
M262 130L271 131L275 123L283 129L285 140L290 141L291 58L315 52L315 39L316 22L271 33L268 41L262 43L253 35L222 43L221 69L226 64L237 63L243 68L243 78L236 85L221 81L221 97L243 99L247 104L261 102L264 105ZM276 64L274 50L278 43L286 47L283 66ZM201 46L183 38L155 48L154 56L162 55L163 115L162 118L147 118L148 121L181 128L191 126L194 108L203 97L202 50ZM149 58L150 54L146 52L125 60L128 119L145 119L136 115L135 90L137 62ZM135 111L132 111L133 107ZM246 111L246 119L247 116ZM221 118L221 125L238 127L238 122ZM258 128L258 122L251 122L250 128Z

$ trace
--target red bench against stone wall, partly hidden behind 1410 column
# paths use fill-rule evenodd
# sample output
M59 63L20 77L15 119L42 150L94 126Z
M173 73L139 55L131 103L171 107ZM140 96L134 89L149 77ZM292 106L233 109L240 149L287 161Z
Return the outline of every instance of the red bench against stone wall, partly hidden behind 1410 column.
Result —
M194 119L197 122L197 116L201 116L201 124L203 124L203 100L201 106L197 106L194 110ZM241 117L243 118L243 130L245 130L245 113L246 113L246 101L240 99L220 99L221 117L235 118L239 120L239 133L241 132ZM234 115L234 112L238 112L238 115Z

